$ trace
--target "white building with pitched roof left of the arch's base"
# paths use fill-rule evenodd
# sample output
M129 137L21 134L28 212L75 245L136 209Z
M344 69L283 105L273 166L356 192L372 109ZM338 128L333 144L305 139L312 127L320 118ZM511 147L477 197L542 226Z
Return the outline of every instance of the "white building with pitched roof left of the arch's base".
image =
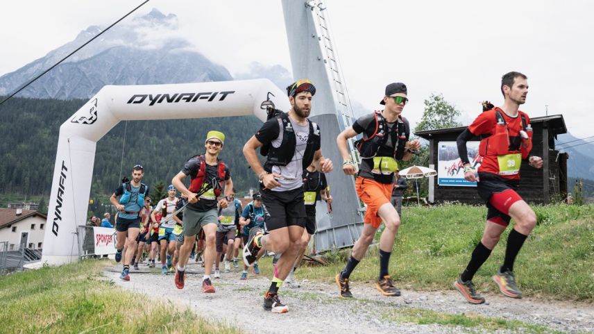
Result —
M0 242L8 241L8 251L43 249L46 219L35 210L0 209Z

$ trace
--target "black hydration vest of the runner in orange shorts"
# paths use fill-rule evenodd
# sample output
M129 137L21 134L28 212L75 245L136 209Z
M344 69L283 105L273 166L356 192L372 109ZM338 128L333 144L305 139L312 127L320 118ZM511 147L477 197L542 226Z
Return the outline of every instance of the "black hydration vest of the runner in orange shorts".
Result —
M394 147L393 158L396 160L402 160L402 156L405 154L405 144L407 142L406 131L405 131L405 118L398 116L397 126L392 126L391 133L387 133L387 122L381 111L375 111L375 131L373 135L364 137L355 142L355 147L359 151L359 156L362 159L369 159L375 157L377 152L380 151L380 147L386 144L388 137L391 137L392 147Z

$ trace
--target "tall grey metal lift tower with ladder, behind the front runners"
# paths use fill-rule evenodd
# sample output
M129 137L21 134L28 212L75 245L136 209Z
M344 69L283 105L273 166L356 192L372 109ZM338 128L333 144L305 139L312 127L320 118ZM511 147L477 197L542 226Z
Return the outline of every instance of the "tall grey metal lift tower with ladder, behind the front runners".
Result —
M316 250L351 247L361 234L363 208L355 192L355 178L342 172L336 137L355 120L332 42L328 10L322 0L282 0L282 10L294 78L307 78L316 86L309 119L319 124L322 153L334 163L334 171L326 175L334 197L332 213L324 202L317 202ZM359 162L353 140L348 140L348 150L353 161Z

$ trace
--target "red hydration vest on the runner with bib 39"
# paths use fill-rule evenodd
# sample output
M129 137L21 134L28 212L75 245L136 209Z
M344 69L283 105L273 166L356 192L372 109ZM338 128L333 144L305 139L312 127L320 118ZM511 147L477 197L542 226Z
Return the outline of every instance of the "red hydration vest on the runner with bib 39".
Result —
M518 113L522 117L522 130L528 135L528 138L523 138L520 135L520 153L522 153L522 158L526 159L532 150L532 126L527 124L524 112L518 111ZM481 135L479 154L481 156L504 156L517 152L516 150L511 151L509 148L509 128L499 108L495 108L495 119L497 120L495 131Z

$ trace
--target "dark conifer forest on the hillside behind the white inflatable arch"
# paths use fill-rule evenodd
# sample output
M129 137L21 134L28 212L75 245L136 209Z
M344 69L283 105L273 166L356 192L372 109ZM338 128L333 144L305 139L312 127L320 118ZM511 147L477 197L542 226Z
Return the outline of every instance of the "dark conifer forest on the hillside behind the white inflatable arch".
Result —
M12 98L0 106L0 193L49 197L60 125L85 102ZM261 124L254 116L120 122L97 142L91 197L111 194L136 164L144 166L147 185L169 184L189 158L204 152L210 130L226 134L221 159L237 191L246 192L257 186L257 176L241 149Z

